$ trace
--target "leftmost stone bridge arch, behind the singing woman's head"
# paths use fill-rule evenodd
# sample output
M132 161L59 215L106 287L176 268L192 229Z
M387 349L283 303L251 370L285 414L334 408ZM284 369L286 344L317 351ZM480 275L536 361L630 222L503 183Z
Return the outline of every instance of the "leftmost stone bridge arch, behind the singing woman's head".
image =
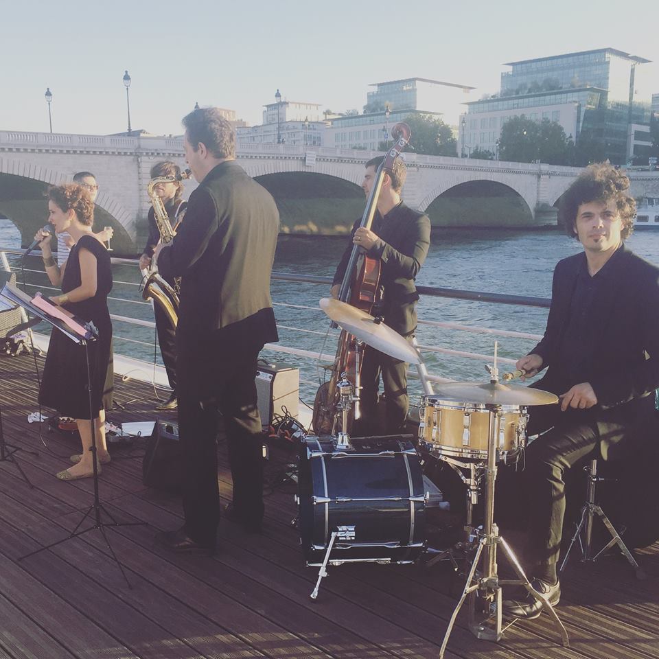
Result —
M0 159L0 165L0 213L16 224L21 231L21 242L25 246L32 242L34 233L47 221L45 193L49 185L70 183L72 177L51 167L9 158ZM121 248L122 245L131 245L130 236L135 230L135 218L102 189L95 206L95 230L100 231L104 226L112 226L115 229L117 246Z

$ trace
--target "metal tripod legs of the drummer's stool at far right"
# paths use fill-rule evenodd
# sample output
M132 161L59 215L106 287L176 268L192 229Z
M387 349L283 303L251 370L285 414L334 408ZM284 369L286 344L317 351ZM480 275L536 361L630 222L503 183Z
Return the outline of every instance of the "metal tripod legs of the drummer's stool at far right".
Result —
M588 485L586 486L586 502L581 508L581 518L577 524L577 530L575 531L575 535L573 535L572 540L570 540L570 546L568 547L568 551L565 553L565 557L561 563L559 573L563 573L563 570L565 569L565 566L568 562L568 558L570 557L570 552L572 551L572 548L575 546L575 542L577 542L578 539L579 547L581 548L582 563L594 563L607 549L610 549L612 546L614 546L614 544L617 544L620 551L623 553L623 555L625 555L629 565L631 565L634 570L636 570L636 578L646 579L647 575L645 574L645 570L643 570L643 568L638 565L634 555L631 551L629 551L629 548L627 548L627 545L622 540L620 535L618 535L618 531L616 531L614 525L611 523L601 507L595 503L595 485L601 481L615 481L616 479L601 478L601 476L597 476L597 458L593 458L588 465L583 467L583 471L588 474ZM597 554L593 555L592 522L595 515L599 516L600 520L602 520L606 530L611 535L611 540L608 542L608 544L605 544L605 546L603 546L603 548L601 548Z

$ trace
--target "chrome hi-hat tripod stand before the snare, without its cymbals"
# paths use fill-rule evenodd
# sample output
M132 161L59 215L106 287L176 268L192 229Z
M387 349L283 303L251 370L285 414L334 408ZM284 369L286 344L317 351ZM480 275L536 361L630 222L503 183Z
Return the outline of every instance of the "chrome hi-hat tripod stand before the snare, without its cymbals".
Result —
M492 383L498 382L496 369L492 370ZM469 597L469 629L476 638L485 640L498 641L503 635L505 629L502 628L501 620L501 586L524 586L527 591L540 603L542 608L552 616L557 625L562 645L569 647L568 633L557 616L555 610L549 605L544 595L533 590L531 583L524 574L516 555L513 553L509 544L499 535L499 529L494 524L494 482L496 480L496 415L500 412L500 405L486 404L489 411L489 437L487 442L487 466L485 467L485 520L483 529L475 531L478 535L478 546L474 555L474 561L467 576L467 583L462 596L453 611L451 619L446 629L439 659L443 659L448 638L452 632L453 625L456 621L460 608L462 607L467 596ZM499 579L496 566L496 548L501 546L509 564L515 570L517 579ZM478 564L483 555L483 568L477 572ZM481 613L481 616L477 614ZM514 621L513 621L514 622ZM513 623L509 623L509 627Z

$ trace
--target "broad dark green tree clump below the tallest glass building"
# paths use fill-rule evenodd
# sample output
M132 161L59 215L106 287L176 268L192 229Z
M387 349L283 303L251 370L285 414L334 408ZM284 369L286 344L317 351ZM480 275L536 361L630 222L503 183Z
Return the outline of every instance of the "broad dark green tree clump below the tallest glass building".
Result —
M574 145L561 126L549 119L537 123L524 115L503 124L499 138L499 159L516 163L539 160L550 165L571 165Z

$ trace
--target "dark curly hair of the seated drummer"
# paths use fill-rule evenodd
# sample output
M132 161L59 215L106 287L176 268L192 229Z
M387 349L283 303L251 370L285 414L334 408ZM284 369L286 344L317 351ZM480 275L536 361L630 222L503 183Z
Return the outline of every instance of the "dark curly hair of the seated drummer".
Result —
M575 223L579 206L591 201L608 204L616 203L616 208L622 220L621 238L629 238L634 231L636 217L636 200L629 196L629 178L624 170L616 170L609 162L588 165L577 180L568 187L563 195L559 218L565 226L565 232L572 238L579 238Z

